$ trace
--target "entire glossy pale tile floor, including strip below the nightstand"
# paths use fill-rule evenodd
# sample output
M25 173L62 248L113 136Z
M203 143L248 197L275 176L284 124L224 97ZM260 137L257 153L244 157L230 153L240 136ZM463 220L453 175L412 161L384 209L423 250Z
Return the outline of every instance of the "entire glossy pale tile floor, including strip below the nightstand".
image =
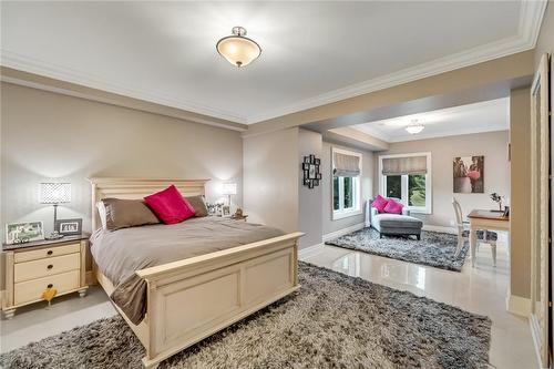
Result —
M320 246L301 253L301 259L393 288L459 306L492 319L491 363L495 368L536 368L527 320L506 312L509 281L506 244L499 243L497 266L491 266L488 245L478 253L478 266L469 260L462 273L447 271L400 260ZM0 352L60 334L102 317L115 315L104 291L93 286L85 298L59 298L21 308L11 320L0 321Z

